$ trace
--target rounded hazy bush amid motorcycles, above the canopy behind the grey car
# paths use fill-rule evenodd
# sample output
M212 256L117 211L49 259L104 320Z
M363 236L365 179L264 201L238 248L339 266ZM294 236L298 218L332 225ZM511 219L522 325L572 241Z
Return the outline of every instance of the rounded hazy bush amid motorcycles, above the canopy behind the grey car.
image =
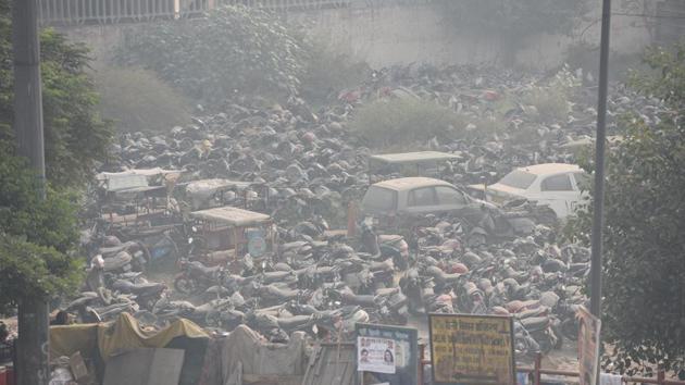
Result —
M461 133L464 119L452 110L419 99L377 100L354 112L352 131L375 147L415 149L416 142Z

